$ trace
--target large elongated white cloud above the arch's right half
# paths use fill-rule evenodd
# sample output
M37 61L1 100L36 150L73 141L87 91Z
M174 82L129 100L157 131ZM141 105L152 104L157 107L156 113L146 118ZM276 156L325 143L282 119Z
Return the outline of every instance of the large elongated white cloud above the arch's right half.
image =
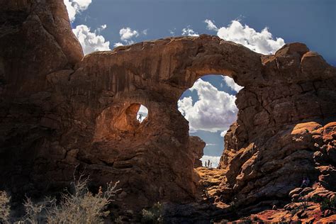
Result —
M214 28L217 28L213 21L207 19L205 22L208 29L214 30ZM217 35L223 40L240 43L250 48L250 50L264 55L274 54L276 50L279 50L285 44L283 38L274 40L267 27L262 29L261 32L257 32L254 28L250 28L247 25L243 26L240 21L232 21L228 27L218 28Z

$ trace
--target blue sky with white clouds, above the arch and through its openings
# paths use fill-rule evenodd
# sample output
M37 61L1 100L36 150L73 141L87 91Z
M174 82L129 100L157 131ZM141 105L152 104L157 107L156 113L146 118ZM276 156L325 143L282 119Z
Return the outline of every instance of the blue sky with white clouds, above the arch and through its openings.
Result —
M262 54L285 43L306 43L336 66L334 0L64 0L84 53L111 50L144 40L202 33L218 35ZM229 77L209 74L178 102L189 133L206 142L203 160L216 166L223 135L237 116ZM141 108L142 113L147 113Z

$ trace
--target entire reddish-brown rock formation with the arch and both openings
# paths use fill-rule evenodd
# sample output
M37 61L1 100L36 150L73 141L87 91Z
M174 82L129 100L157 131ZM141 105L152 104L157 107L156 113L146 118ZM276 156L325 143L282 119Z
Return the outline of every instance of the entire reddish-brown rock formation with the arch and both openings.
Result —
M77 167L96 186L120 180L128 208L193 201L203 143L177 101L199 77L224 74L245 88L225 135L223 200L283 198L303 174L335 191L336 69L306 45L264 56L201 35L83 57L62 2L0 1L1 188L60 189Z

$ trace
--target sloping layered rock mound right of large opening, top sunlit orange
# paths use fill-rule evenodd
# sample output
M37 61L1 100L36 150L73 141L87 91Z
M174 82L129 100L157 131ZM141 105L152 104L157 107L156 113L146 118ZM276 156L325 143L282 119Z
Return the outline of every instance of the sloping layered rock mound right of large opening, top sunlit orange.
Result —
M247 207L246 211L258 211L265 201L269 207L284 205L289 198L298 202L308 193L307 200L314 196L331 200L336 191L336 123L323 126L315 121L286 125L262 147L249 145L237 150L227 165L223 159L226 179L217 194L226 203L235 201L236 206ZM240 167L235 167L234 161L239 161ZM313 188L301 192L298 187L307 177ZM295 193L296 189L301 193Z

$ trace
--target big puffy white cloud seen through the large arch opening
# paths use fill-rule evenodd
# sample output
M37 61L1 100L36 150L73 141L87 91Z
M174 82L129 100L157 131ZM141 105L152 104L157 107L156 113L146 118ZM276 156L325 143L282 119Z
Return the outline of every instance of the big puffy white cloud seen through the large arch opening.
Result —
M185 97L177 102L179 111L189 121L189 131L228 130L237 118L235 96L218 91L215 86L202 79L198 79L190 90L197 92L198 101L193 104L191 97Z

